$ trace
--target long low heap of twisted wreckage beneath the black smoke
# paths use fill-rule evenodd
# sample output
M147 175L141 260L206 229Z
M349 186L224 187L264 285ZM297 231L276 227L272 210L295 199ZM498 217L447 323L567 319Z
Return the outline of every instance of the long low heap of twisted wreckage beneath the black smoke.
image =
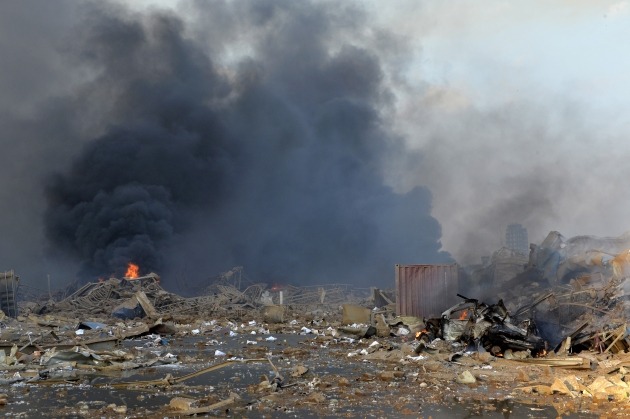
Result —
M259 315L269 306L281 306L283 311L335 311L344 302L361 302L367 297L365 292L359 296L356 288L343 284L284 285L268 289L267 284L247 283L233 275L224 274L220 278L194 297L182 297L164 290L155 273L135 278L110 278L87 283L72 292L66 290L59 301L53 298L20 301L19 311L37 315L72 312L80 317L113 315L121 319L155 317L158 313L160 316L240 318Z

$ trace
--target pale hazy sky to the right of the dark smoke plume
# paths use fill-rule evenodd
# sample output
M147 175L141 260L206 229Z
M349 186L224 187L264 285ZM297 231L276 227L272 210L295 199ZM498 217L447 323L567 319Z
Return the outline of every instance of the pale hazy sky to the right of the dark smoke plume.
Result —
M416 4L383 17L414 39L398 122L431 160L401 178L432 191L444 246L474 260L512 222L533 243L627 231L630 4Z

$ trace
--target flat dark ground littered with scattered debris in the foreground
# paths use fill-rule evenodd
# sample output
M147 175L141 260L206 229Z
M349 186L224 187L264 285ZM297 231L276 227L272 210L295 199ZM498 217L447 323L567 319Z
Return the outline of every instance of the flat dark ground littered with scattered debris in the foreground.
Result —
M419 350L413 326L366 338L366 325L343 326L339 313L323 314L279 324L254 318L136 319L93 330L46 316L11 321L3 338L20 330L34 339L41 335L35 331L52 327L58 337L74 334L76 345L29 354L28 347L11 344L1 368L0 412L27 417L45 411L74 417L630 416L626 354L581 353L588 367L576 368L554 363L553 357L519 360L466 352L461 344L443 340ZM156 323L160 334L148 330ZM128 337L100 349L84 343L100 338L103 345L112 334Z

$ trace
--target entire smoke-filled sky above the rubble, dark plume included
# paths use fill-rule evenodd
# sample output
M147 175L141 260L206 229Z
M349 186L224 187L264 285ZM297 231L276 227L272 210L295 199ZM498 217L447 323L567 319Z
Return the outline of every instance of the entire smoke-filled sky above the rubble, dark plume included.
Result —
M630 230L630 2L0 11L0 269L36 283L131 259L387 283L477 263L511 223Z

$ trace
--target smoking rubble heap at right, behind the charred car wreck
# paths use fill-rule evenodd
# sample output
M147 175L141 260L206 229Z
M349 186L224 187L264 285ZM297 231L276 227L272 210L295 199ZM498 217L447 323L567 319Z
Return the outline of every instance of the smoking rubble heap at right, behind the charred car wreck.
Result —
M551 232L530 248L528 262L510 278L496 280L503 253L485 267L471 269L469 278L486 284L486 297L505 302L512 313L508 319L529 322L530 335L546 341L547 351L558 350L567 339L572 353L628 350L630 235L565 239ZM471 290L479 288L470 286L467 292Z

